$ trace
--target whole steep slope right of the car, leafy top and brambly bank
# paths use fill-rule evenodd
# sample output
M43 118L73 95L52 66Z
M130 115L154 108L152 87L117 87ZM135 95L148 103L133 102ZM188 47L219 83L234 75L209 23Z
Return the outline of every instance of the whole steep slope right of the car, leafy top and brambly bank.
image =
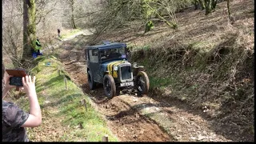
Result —
M159 22L143 34L143 25L130 22L91 43L127 42L131 61L146 66L151 98L186 102L220 134L254 141L254 1L234 0L230 9L234 22L221 2L209 15L178 13L178 30Z

